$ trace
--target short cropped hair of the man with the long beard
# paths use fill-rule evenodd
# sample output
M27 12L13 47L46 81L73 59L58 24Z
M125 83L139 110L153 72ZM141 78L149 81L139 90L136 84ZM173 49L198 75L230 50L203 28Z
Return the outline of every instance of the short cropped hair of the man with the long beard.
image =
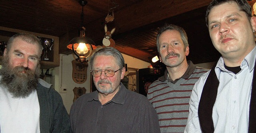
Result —
M28 34L28 33L18 33L18 34L15 34L14 36L12 36L8 42L7 42L7 45L6 45L6 52L8 53L9 50L12 48L12 43L13 41L16 39L16 38L20 38L21 40L29 43L29 44L35 44L38 46L39 48L39 51L40 53L42 53L42 49L43 49L43 46L40 42L40 39L32 34Z

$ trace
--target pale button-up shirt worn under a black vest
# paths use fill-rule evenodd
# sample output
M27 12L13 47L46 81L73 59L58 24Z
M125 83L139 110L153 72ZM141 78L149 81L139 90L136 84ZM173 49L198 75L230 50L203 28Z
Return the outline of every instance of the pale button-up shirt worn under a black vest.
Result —
M215 72L220 84L212 112L214 133L248 133L255 53L256 47L244 58L240 65L241 71L237 74L224 67L223 58L218 60ZM202 75L194 85L185 133L202 132L198 119L198 105L209 73L210 71Z

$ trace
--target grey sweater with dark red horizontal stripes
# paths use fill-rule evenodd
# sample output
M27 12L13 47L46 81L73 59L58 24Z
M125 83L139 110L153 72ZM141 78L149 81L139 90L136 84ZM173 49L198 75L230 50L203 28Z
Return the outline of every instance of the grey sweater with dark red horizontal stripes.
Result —
M188 103L194 84L209 71L188 61L184 75L172 81L164 76L154 81L148 89L148 100L156 109L161 133L183 133L188 119Z

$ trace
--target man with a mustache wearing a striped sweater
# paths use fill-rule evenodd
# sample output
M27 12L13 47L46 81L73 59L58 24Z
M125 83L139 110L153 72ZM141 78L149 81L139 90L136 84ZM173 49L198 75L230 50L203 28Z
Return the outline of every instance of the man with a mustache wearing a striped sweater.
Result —
M147 97L158 114L161 133L183 133L192 89L208 69L196 67L186 60L188 37L179 26L166 24L161 27L156 45L166 71L150 85Z

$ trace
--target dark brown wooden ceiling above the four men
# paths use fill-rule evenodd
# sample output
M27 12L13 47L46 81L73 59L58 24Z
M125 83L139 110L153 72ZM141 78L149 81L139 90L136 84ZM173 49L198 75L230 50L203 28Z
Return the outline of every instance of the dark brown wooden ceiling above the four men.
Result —
M256 0L250 1L252 5ZM220 54L212 46L205 24L211 0L87 0L84 6L86 36L102 46L105 18L114 9L112 35L120 52L150 62L158 54L156 34L165 23L176 24L188 34L194 64L214 62ZM60 54L71 54L68 42L78 36L82 6L79 0L0 0L0 26L60 38ZM0 35L6 34L0 30Z

